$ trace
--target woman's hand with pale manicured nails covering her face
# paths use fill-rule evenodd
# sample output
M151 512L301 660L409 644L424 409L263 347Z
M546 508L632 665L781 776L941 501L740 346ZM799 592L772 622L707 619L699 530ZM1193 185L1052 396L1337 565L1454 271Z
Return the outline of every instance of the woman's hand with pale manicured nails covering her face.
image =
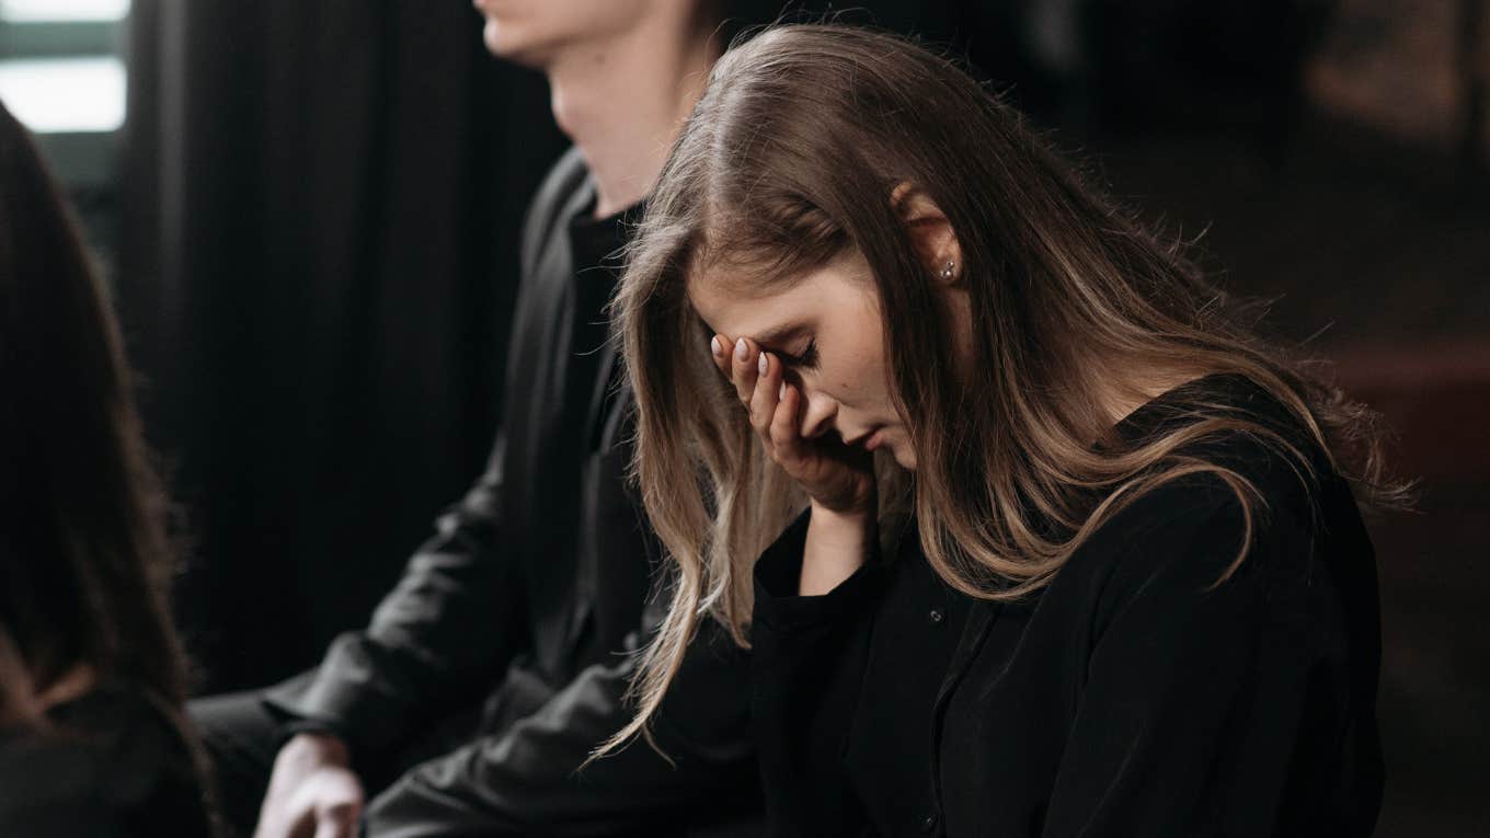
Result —
M873 455L845 446L836 434L802 435L802 392L784 379L781 359L745 337L732 347L724 335L715 335L711 349L714 364L749 412L766 453L812 498L814 511L873 516Z

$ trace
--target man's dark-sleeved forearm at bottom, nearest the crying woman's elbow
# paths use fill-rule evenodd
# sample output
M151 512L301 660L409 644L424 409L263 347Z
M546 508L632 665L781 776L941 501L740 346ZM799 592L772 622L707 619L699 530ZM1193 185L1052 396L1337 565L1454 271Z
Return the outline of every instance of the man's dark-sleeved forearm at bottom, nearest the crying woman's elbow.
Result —
M654 717L672 763L635 741L580 769L632 719L635 664L590 667L533 716L407 772L368 807L370 834L670 835L754 817L748 653L712 620Z

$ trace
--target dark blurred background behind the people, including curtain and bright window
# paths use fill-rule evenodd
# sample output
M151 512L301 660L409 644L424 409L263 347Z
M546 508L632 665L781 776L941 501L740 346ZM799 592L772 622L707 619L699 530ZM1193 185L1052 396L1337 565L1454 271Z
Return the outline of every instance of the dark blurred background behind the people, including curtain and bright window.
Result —
M966 57L1386 415L1421 510L1371 522L1378 835L1490 835L1490 0L834 10ZM180 501L201 692L365 622L483 465L566 143L480 28L460 0L0 0L0 98L79 207Z

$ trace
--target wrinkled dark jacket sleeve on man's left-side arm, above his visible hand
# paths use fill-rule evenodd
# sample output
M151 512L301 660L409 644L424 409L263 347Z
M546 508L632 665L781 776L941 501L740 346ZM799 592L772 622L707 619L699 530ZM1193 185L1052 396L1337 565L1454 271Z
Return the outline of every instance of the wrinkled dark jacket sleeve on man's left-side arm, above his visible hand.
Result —
M502 550L504 447L498 438L486 473L440 516L371 623L332 641L316 670L270 687L285 734L334 732L361 760L502 674L524 643L519 570Z

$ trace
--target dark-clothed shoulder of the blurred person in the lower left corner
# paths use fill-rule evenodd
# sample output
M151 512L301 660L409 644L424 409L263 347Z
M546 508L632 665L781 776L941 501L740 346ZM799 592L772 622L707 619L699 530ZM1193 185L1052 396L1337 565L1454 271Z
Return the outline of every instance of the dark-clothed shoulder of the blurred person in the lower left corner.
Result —
M0 835L210 835L177 722L139 689L100 686L0 734Z

